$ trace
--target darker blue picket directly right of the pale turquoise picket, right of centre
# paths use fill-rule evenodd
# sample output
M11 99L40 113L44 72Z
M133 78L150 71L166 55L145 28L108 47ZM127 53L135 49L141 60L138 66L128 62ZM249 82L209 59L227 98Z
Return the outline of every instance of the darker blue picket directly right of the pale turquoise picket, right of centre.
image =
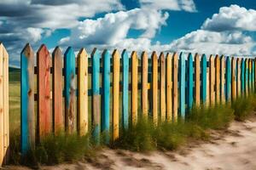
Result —
M193 105L193 71L194 71L194 67L193 67L193 56L192 54L189 54L189 58L188 58L188 95L187 95L187 103L188 103L188 107L189 110L192 109L192 105Z

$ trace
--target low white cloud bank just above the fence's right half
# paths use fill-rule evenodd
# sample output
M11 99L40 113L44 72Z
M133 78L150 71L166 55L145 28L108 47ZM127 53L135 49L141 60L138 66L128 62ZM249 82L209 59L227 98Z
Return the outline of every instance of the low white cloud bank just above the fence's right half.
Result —
M172 51L183 50L185 52L201 54L251 54L255 45L253 39L235 32L192 31L170 44Z

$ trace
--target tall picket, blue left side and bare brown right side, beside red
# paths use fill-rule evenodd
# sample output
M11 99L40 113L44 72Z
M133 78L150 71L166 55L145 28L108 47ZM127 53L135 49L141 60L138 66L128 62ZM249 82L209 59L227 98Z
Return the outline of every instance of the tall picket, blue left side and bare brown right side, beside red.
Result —
M25 156L35 146L35 115L34 115L34 53L26 44L20 54L20 150Z

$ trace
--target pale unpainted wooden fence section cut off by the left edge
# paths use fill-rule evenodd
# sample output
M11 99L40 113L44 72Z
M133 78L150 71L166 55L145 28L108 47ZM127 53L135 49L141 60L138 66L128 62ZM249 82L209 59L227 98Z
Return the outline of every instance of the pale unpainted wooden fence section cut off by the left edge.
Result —
M9 156L9 55L0 42L0 167Z

